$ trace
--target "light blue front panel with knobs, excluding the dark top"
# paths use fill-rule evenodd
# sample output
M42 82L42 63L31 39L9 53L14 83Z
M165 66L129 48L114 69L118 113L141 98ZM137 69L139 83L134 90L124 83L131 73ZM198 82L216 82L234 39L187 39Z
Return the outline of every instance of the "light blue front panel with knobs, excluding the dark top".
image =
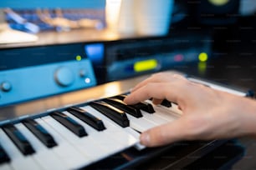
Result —
M96 84L89 59L2 71L0 77L0 106Z

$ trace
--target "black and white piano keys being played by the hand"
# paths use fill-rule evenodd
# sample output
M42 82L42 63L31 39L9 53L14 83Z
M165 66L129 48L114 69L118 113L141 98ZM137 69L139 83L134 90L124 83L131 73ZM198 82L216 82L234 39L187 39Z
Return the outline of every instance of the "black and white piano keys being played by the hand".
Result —
M145 149L139 143L141 132L182 115L175 103L166 100L158 106L151 100L127 106L124 97L101 98L3 122L0 169L85 168L126 148Z

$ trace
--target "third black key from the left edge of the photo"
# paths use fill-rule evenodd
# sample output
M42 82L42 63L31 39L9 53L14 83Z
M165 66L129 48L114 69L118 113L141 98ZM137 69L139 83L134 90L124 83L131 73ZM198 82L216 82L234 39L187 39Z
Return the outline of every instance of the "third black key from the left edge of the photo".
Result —
M54 138L38 122L33 119L25 119L22 122L47 148L57 146Z

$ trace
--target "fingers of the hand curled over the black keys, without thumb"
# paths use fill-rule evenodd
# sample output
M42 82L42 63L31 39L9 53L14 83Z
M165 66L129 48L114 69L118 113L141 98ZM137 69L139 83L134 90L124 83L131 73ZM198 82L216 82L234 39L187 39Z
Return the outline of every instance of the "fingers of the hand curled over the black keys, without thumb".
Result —
M166 78L168 77L168 78ZM125 97L127 104L136 104L153 97L154 104L160 104L162 99L177 102L177 98L184 97L187 91L187 79L180 75L157 73L139 83L131 94Z

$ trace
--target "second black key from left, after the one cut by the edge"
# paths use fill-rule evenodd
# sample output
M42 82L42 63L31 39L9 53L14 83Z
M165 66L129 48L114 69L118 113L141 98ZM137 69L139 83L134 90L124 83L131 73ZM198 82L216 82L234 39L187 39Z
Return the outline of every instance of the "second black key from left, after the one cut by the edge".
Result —
M23 155L35 153L33 147L28 142L28 139L23 136L23 133L19 132L13 124L7 124L3 126L3 131L7 133L8 137L11 138L13 143L17 146Z

